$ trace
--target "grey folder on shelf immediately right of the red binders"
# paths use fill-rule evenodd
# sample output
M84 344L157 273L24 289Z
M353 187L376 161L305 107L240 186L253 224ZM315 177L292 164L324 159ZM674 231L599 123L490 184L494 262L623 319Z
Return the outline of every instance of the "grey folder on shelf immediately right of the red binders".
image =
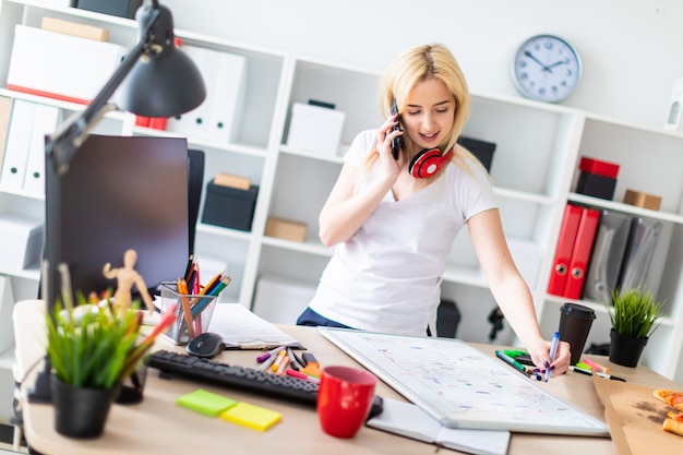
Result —
M583 298L607 303L612 300L619 272L626 251L633 217L620 212L602 211L596 242L586 273Z

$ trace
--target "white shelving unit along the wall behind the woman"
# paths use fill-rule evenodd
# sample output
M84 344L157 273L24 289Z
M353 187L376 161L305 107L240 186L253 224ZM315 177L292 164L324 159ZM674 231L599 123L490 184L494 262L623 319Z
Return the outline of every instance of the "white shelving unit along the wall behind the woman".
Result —
M100 26L109 40L130 48L136 23L34 0L0 1L0 96L57 106L64 111L83 106L10 92L5 88L15 24L40 26L43 16ZM183 45L206 47L243 56L247 60L244 108L236 141L215 143L188 137L191 148L206 154L204 181L218 172L249 177L260 187L251 231L197 226L196 253L228 267L232 284L224 301L252 304L257 279L277 275L293 283L315 284L332 254L317 239L317 215L342 168L343 151L355 135L382 122L378 99L380 74L313 60L243 43L228 41L194 32L176 31ZM305 153L287 145L290 112L295 103L309 99L332 103L346 112L338 156ZM111 113L98 127L109 134L166 135L165 131L134 127L131 116ZM668 318L651 337L643 362L683 383L683 135L660 129L627 124L579 109L539 104L491 94L472 95L472 112L464 134L496 144L491 177L496 185L506 236L530 243L540 252L531 291L539 321L550 337L559 324L560 306L566 299L546 292L558 232L567 202L612 208L660 219L670 226L659 297L667 300ZM663 197L659 212L619 202L576 194L573 182L582 155L621 164L614 201L626 188ZM1 182L0 182L1 183ZM0 212L43 217L43 200L22 192L4 191L0 184ZM203 211L200 208L200 219ZM303 221L304 242L265 236L268 216ZM37 266L0 271L11 277L15 300L37 292ZM455 241L442 286L443 297L457 302L464 324L458 337L486 342L487 315L495 307L467 232ZM609 320L602 306L582 301L598 313L588 343L609 340ZM12 304L2 302L0 304ZM273 302L277 304L277 302ZM293 323L293 321L291 321ZM5 327L11 321L0 321ZM4 328L0 328L4 330ZM496 339L513 342L508 332ZM0 363L4 368L7 361ZM10 384L0 385L0 399L11 396Z

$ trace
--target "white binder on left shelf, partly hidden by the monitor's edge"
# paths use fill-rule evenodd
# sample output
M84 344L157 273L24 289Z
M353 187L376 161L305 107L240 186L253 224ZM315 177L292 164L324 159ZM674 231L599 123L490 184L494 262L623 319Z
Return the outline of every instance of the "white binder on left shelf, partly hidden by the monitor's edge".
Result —
M27 193L45 194L45 136L55 132L59 120L57 107L36 105L23 185Z

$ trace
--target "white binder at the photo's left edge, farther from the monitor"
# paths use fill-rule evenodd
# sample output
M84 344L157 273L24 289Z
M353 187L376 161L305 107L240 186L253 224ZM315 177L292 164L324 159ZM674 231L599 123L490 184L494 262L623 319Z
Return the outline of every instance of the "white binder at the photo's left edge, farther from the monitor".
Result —
M35 111L35 103L23 99L14 100L10 131L4 147L2 173L0 173L0 184L4 189L19 191L24 185Z

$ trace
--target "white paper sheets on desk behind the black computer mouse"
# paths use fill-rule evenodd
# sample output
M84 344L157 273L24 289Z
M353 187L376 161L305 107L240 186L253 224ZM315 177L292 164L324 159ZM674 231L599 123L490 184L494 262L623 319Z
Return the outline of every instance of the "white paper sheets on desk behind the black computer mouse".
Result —
M269 349L283 345L305 349L301 343L241 303L216 304L208 332L220 335L228 349Z

